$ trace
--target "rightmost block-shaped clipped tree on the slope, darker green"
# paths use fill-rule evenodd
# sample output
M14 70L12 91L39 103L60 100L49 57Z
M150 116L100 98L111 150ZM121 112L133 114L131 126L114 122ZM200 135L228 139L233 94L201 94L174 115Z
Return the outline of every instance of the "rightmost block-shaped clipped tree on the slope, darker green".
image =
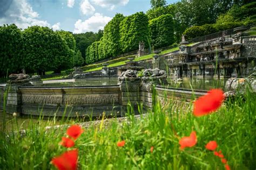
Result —
M154 48L166 47L175 42L173 19L170 14L150 20L151 43Z

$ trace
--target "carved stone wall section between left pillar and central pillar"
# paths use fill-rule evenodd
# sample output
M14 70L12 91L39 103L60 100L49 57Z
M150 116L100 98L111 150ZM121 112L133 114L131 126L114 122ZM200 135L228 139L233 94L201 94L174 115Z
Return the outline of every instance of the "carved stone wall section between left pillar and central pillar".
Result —
M118 112L121 109L119 86L33 88L21 87L22 114L45 116L99 116Z

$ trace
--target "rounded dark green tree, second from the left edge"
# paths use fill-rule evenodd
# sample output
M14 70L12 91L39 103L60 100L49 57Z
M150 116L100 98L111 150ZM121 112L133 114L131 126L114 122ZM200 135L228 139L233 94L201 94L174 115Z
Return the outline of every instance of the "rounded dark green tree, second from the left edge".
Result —
M70 68L72 52L66 41L49 27L31 26L23 31L23 66L39 75L49 70Z

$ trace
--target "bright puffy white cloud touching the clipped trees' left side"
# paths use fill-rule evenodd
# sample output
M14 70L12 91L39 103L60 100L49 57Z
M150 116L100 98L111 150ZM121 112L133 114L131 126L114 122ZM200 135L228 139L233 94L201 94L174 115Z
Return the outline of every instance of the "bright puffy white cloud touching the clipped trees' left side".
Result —
M83 33L87 31L97 32L98 30L103 30L104 26L111 20L111 17L103 16L100 13L95 13L92 17L86 19L82 22L78 19L75 23L74 33Z

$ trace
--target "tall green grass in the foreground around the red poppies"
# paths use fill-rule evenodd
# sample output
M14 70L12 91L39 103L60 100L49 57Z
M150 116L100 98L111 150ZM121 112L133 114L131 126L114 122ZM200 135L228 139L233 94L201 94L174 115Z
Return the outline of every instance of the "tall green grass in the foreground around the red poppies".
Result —
M141 119L134 118L129 107L129 122L112 119L107 125L102 122L85 129L75 145L78 169L224 169L220 159L205 149L210 140L217 141L231 169L255 169L255 103L256 95L246 93L226 101L213 114L195 117L191 107L188 111L176 109L170 101L165 107L156 103ZM49 121L48 125L55 123ZM39 119L37 124L30 124L25 136L2 133L0 169L54 169L51 159L66 151L59 145L65 130L45 133ZM180 137L189 136L193 130L197 132L196 146L179 150ZM117 147L120 140L126 141L124 147Z

